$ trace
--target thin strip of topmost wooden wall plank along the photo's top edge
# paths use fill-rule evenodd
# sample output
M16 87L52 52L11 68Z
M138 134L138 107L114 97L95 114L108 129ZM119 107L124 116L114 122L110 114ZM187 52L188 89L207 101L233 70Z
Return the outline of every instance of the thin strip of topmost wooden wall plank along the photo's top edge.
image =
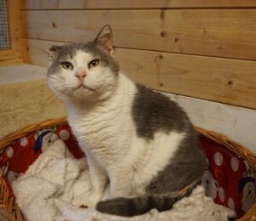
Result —
M240 8L255 7L255 0L22 0L24 9L74 8Z

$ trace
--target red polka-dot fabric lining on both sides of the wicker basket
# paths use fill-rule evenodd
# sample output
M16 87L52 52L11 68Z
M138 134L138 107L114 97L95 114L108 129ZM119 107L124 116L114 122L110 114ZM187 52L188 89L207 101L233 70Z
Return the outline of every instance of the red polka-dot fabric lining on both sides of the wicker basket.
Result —
M47 150L55 139L62 139L76 158L84 156L68 125L50 127L15 141L0 153L0 167L6 181L13 181L38 156ZM201 136L201 148L207 156L206 172L201 184L206 194L225 207L235 209L240 218L256 201L255 171L223 145ZM10 196L14 196L9 185Z

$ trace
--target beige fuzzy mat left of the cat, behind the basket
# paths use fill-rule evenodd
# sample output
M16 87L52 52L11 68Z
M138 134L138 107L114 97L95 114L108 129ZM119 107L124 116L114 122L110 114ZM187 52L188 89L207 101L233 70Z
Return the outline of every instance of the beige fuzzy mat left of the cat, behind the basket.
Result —
M0 85L0 139L34 122L66 116L46 80Z

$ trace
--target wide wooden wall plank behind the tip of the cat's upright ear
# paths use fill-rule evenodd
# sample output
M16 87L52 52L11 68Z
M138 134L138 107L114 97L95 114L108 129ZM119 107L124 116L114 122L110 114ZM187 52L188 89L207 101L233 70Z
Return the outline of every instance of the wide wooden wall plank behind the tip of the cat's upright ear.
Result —
M256 9L39 10L23 12L22 24L23 37L81 42L108 23L119 48L256 60L255 14Z

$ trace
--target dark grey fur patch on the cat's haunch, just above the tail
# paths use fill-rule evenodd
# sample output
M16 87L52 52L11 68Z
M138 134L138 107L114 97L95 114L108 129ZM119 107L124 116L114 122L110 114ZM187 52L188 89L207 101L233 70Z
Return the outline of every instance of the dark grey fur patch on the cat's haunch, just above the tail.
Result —
M183 190L195 180L201 179L207 167L206 157L198 144L193 128L187 133L165 169L148 184L148 194L166 194Z

